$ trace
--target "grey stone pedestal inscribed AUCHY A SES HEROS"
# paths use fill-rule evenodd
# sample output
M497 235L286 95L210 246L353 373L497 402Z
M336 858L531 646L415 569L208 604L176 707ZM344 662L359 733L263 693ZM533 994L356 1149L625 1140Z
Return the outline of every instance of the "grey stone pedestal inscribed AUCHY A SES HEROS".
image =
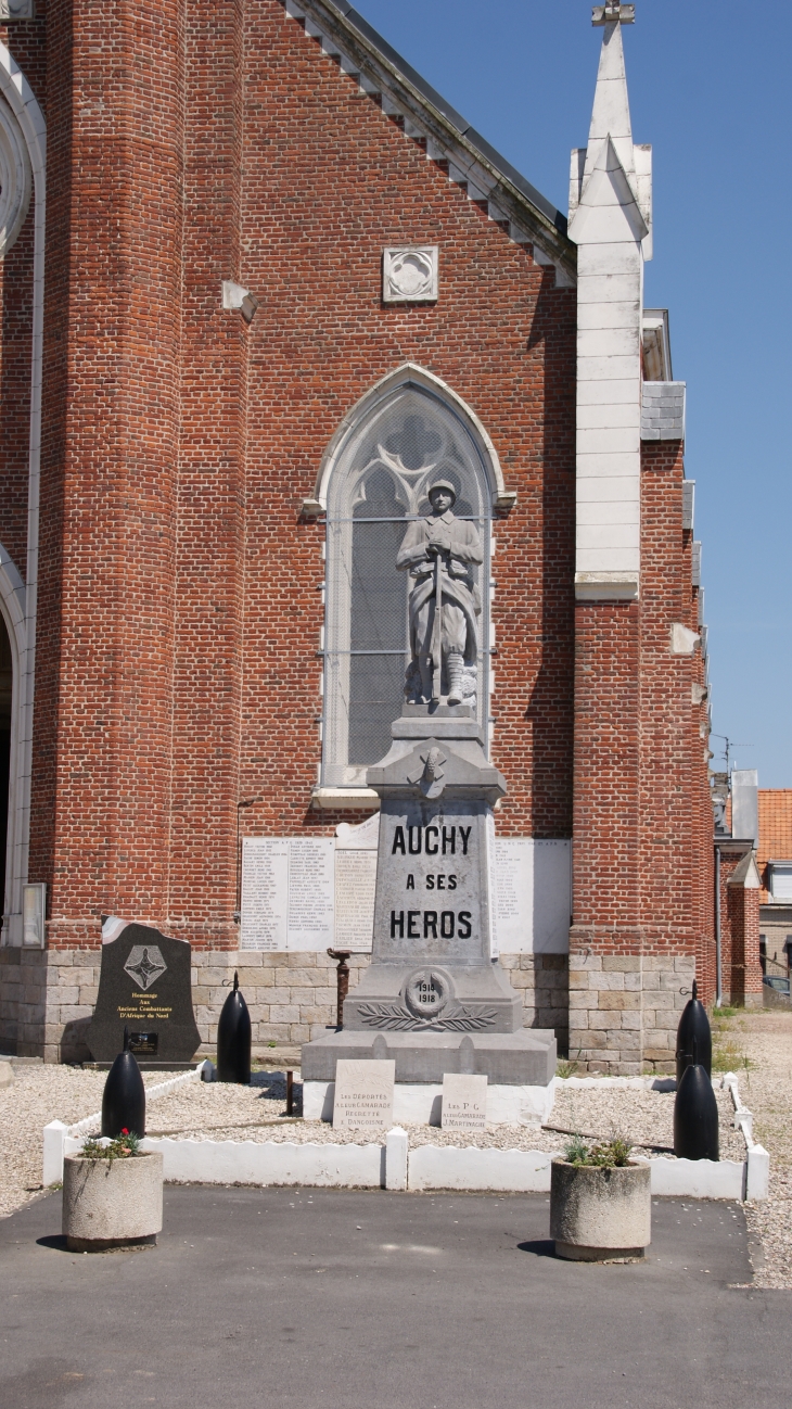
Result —
M397 1084L448 1071L545 1089L555 1036L523 1029L492 936L492 807L506 782L466 706L406 704L392 734L366 778L382 799L372 962L344 1029L303 1047L303 1081L334 1081L340 1057L392 1057Z

